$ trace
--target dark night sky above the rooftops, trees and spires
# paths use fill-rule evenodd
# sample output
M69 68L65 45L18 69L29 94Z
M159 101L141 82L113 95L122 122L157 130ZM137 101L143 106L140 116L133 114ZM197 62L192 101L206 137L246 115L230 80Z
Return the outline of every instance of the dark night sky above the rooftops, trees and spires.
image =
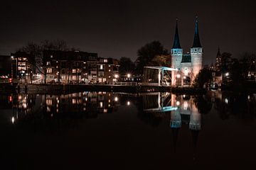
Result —
M66 40L101 57L137 58L146 42L173 44L176 17L183 51L193 43L198 15L205 64L215 62L218 45L237 57L256 52L256 2L185 0L5 1L0 11L0 54L28 41Z

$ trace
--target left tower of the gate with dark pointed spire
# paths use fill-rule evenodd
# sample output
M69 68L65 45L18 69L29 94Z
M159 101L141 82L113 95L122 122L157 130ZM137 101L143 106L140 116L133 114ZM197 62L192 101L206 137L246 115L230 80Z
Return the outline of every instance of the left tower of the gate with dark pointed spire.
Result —
M171 68L181 69L181 60L182 60L183 50L181 48L181 44L179 42L178 37L178 20L176 20L176 30L174 35L174 45L171 48ZM176 74L177 72L171 72L171 85L176 84Z

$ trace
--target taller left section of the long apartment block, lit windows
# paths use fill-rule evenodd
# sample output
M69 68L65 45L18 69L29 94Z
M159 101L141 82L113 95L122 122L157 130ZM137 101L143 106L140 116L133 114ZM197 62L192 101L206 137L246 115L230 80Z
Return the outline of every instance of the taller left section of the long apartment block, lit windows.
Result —
M92 81L97 77L97 53L46 50L43 52L43 68L46 83Z

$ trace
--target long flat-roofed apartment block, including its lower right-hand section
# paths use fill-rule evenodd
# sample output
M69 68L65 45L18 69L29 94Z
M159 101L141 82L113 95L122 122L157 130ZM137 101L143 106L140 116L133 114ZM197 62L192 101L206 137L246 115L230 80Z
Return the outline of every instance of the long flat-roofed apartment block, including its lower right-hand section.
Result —
M97 57L97 53L81 51L43 52L46 83L112 84L119 77L118 60Z

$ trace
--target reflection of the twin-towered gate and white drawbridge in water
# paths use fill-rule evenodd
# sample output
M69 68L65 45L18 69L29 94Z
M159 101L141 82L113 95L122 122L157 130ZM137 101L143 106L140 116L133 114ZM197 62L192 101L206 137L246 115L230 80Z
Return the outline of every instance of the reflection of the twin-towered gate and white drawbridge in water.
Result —
M171 128L181 128L181 123L189 123L189 129L201 130L201 113L191 96L176 96L170 93L151 93L143 96L143 110L148 113L168 113L171 111Z

